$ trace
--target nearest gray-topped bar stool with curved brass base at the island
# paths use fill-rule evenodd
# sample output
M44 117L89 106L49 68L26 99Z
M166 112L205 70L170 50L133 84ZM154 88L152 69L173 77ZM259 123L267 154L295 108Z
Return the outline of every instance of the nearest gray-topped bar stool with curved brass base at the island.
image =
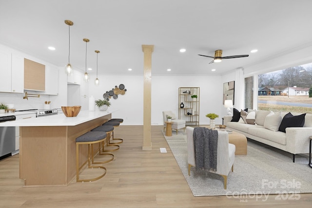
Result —
M106 133L105 132L86 132L82 134L81 136L78 136L76 138L76 181L77 182L91 182L96 181L100 178L102 178L104 175L106 175L106 168L103 166L92 166L91 163L93 161L93 144L100 143L105 141L106 139ZM102 173L100 176L90 179L79 179L79 172L82 169L82 167L86 164L83 163L81 167L79 167L79 145L88 145L88 168L98 168L98 169L104 169L105 172Z

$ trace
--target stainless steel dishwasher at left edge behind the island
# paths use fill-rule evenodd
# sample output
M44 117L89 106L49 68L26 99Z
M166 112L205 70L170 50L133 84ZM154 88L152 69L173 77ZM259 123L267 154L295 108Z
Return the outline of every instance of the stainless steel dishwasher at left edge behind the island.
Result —
M0 122L15 120L14 115L0 116ZM15 151L15 127L0 127L0 159L11 156Z

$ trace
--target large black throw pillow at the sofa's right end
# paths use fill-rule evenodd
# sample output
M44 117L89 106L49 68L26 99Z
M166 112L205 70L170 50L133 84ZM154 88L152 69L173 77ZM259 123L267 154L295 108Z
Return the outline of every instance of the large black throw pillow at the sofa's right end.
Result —
M301 115L292 115L292 113L287 113L283 117L278 131L286 133L286 128L288 127L303 127L306 114L307 113L303 113Z

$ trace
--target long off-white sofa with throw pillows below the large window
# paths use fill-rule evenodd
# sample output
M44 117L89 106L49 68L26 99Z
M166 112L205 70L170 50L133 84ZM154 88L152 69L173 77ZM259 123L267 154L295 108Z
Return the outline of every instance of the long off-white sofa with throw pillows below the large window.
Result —
M244 134L247 138L292 153L293 162L296 154L309 153L309 136L312 136L312 114L305 115L303 127L289 127L286 128L285 133L270 130L270 127L274 126L278 130L280 123L270 123L269 117L267 118L269 113L271 112L255 111L255 125L244 123L242 118L238 122L231 122L232 116L225 116L224 125L230 130ZM287 113L280 113L282 118L285 114ZM292 115L299 114L302 113L292 113Z

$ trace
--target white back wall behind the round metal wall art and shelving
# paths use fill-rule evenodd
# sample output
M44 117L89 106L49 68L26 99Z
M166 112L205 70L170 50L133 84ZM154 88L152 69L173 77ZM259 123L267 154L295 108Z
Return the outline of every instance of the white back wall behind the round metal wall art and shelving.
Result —
M108 111L118 110L113 117L124 119L125 125L143 124L143 76L105 76L99 75L100 84L94 85L95 76L90 76L89 95L96 100L103 99L106 91L124 84L127 92L110 99L112 105ZM154 76L152 75L152 125L163 125L162 111L172 110L178 113L178 88L200 87L200 124L210 121L207 113L219 114L217 123L222 123L225 115L222 105L221 76ZM221 84L220 84L221 83Z

